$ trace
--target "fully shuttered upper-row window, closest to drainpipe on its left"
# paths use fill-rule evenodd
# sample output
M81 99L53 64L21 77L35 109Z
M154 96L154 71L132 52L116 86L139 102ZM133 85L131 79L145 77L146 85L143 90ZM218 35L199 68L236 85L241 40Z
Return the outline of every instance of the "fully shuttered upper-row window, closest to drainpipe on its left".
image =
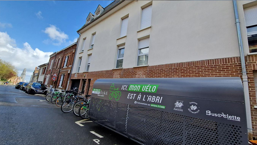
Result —
M140 29L151 26L152 5L142 9Z

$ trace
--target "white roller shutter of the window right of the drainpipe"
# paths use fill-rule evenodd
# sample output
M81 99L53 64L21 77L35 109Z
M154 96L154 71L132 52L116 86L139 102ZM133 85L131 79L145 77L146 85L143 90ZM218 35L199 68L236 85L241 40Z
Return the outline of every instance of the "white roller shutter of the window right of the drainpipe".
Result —
M257 25L257 5L243 9L246 27Z

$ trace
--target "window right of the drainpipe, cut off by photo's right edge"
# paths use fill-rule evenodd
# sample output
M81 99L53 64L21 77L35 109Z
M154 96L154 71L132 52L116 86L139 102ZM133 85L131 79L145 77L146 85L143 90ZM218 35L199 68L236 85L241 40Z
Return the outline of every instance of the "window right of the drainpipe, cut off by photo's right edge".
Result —
M244 8L249 52L257 52L257 5Z

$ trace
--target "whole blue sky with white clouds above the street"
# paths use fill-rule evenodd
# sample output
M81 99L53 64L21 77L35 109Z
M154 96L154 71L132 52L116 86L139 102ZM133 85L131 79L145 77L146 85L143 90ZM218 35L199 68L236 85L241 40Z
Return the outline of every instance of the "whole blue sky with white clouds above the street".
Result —
M0 1L0 59L26 68L29 82L36 66L75 41L89 12L113 1Z

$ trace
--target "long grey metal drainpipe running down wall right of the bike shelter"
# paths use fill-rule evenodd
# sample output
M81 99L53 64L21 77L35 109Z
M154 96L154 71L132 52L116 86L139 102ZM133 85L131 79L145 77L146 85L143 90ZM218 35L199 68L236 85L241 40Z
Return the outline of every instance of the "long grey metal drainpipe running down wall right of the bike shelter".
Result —
M234 5L234 13L235 13L236 26L237 26L237 38L238 38L238 45L239 45L239 52L240 52L240 59L241 59L241 66L242 66L243 91L244 91L244 100L245 100L245 109L246 109L248 138L249 140L252 140L252 117L251 117L251 108L250 108L248 79L246 75L245 60L244 60L244 54L243 54L243 43L242 43L242 37L241 37L241 31L240 31L240 22L238 18L236 0L233 0L233 5Z

